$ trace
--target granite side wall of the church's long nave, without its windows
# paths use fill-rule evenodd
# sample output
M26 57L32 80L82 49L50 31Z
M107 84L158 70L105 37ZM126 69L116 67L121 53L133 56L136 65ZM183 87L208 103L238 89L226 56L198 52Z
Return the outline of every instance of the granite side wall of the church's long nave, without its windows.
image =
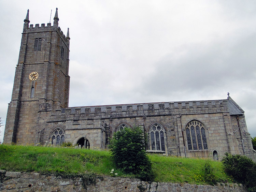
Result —
M146 133L149 133L154 123L158 123L165 131L166 148L163 153L168 155L213 158L213 152L216 151L219 159L225 152L229 152L245 154L255 161L255 152L248 142L250 134L247 132L244 115L239 116L238 128L237 116L229 113L229 102L232 102L231 99L40 110L36 131L38 134L34 143L51 142L52 132L61 128L65 132L66 142L75 145L84 137L92 149L104 149L108 148L109 138L123 123L129 127L140 126ZM208 149L188 150L186 126L192 120L204 124ZM150 145L147 149L150 149Z

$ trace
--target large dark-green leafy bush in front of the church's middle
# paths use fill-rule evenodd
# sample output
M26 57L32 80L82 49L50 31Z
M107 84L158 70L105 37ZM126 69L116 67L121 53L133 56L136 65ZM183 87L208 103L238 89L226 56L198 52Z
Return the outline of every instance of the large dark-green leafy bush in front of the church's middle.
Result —
M114 133L110 150L118 168L142 180L153 181L155 177L145 144L144 132L139 127L124 128Z

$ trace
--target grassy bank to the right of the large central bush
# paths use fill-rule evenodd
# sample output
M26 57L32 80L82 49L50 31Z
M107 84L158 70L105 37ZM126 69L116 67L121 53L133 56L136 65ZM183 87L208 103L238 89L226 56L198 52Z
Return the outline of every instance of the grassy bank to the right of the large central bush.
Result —
M209 184L203 174L203 167L207 159L158 155L152 155L150 159L156 174L155 180L158 182ZM211 160L210 162L214 167L217 182L233 182L233 178L224 173L221 162Z

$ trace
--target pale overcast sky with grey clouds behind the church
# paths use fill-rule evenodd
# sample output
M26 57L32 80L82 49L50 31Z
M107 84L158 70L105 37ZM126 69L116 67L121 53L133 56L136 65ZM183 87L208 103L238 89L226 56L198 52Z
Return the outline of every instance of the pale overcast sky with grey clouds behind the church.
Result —
M256 2L0 1L0 117L11 101L21 33L30 24L70 29L69 106L226 99L256 136ZM3 129L0 128L0 141Z

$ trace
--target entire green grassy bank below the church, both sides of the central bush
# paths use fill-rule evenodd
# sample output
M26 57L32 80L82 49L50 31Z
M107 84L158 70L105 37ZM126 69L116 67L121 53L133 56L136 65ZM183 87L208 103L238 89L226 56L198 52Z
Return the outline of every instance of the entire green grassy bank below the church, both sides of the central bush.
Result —
M149 155L156 175L155 181L190 184L209 184L204 180L203 166L206 159ZM232 182L225 175L222 163L211 161L218 182ZM117 169L109 151L0 145L0 169L6 171L109 175L111 169L119 177L133 177Z

